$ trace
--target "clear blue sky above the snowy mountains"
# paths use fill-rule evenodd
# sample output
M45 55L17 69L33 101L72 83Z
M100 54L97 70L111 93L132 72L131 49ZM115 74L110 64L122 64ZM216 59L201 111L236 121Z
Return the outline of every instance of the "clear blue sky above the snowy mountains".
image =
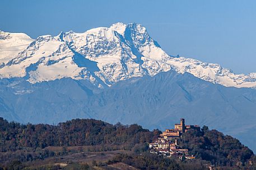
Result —
M0 21L32 38L136 22L170 55L256 72L256 1L1 0Z

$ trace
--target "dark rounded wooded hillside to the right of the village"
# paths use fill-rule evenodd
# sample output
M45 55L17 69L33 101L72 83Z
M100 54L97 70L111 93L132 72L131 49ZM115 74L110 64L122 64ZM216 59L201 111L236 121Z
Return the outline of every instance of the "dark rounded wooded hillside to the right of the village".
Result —
M181 135L179 145L187 148L198 158L220 166L245 164L254 156L253 151L241 144L238 139L217 130L209 130L206 126L201 132L191 129Z

